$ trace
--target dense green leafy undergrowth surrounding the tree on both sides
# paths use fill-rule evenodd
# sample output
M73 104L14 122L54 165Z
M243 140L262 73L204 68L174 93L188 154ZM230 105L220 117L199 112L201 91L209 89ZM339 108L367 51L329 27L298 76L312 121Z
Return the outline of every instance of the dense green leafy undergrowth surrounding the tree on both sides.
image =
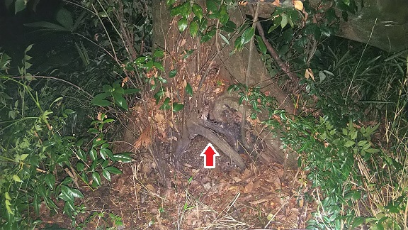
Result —
M230 23L226 9L237 6L234 1L210 1L212 13L189 1L167 4L172 16L179 16L180 31L189 28L202 42L221 34L205 22L210 18L225 25L220 36L225 43L227 34L242 32L234 43L237 52L255 35L271 76L279 76L280 68L254 28ZM310 16L321 13L307 1L304 5ZM18 7L16 12L24 10ZM63 33L75 50L68 68L67 63L43 67L45 57L31 53L31 45L22 60L1 53L1 229L34 229L43 207L52 214L62 210L74 227L84 227L75 221L84 213L79 184L94 190L121 173L120 163L132 160L130 153L113 153L110 141L118 138L113 130L135 98L154 94L162 109L183 109L164 97L176 72L145 75L164 70L163 51L151 52L151 11L143 1L71 2L57 11L53 23L27 23L40 32ZM271 119L264 122L283 131L285 147L299 154L299 166L312 182L305 197L318 204L310 229L407 228L407 57L331 37L339 21L334 9L322 16L326 20L307 26L298 23L301 14L293 8L277 10L275 16L269 42L298 74L294 102L299 114L271 108L271 100L257 88L242 87L251 97L242 93L241 102L251 105L254 117L267 109ZM312 55L305 45L315 48ZM57 51L50 53L58 57ZM188 85L186 91L193 94ZM120 219L111 219L112 226L120 225Z

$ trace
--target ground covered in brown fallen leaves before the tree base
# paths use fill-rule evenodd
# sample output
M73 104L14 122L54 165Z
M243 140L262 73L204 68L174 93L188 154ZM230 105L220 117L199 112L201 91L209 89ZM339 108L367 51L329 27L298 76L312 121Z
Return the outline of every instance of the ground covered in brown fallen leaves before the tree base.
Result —
M305 229L314 211L300 170L248 157L246 170L223 167L225 159L215 169L185 163L163 186L151 157L139 157L96 191L81 188L86 208L75 226L62 213L42 212L41 219L67 229Z

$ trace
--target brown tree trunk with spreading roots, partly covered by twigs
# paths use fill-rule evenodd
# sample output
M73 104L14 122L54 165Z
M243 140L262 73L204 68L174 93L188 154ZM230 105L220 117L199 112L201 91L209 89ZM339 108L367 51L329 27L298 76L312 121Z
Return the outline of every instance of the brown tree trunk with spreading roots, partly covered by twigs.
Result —
M238 113L242 111L237 103L232 103L233 101L238 102L237 95L229 95L226 90L222 95L217 91L219 88L217 88L216 82L227 80L228 84L244 83L249 55L252 56L251 71L248 76L249 85L260 85L263 87L263 91L268 92L277 99L280 109L286 109L289 113L293 113L294 107L290 95L283 92L268 75L266 67L255 48L251 54L247 48L244 48L242 52L229 55L234 47L232 45L216 45L217 42L220 43L220 39L214 37L207 43L200 43L199 38L191 38L188 30L180 33L177 26L179 18L173 18L169 15L164 1L154 0L153 6L153 44L154 47L161 48L166 53L163 60L165 72L162 72L162 75L168 76L170 70L178 71L176 77L169 81L171 86L169 86L168 90L171 91L172 99L178 99L179 103L184 104L183 113L171 117L176 130L179 131L176 148L174 148L175 161L186 149L193 136L208 133L208 131L204 130L206 127L203 124L203 116L210 114L210 118L219 121L225 105L232 106ZM234 21L238 26L241 25L245 18L241 12L239 8L229 11L229 20ZM234 44L235 37L237 35L232 37L230 44ZM193 50L193 53L183 59L183 56L186 55L185 50ZM184 89L186 84L190 84L193 88L193 97L186 94ZM201 87L202 85L203 87ZM197 124L199 125L197 126ZM200 131L197 128L200 128ZM259 127L253 127L253 129L257 129L258 136L266 141L269 148L268 154L273 155L278 163L283 163L285 158L283 150L280 148L280 141L277 138L272 138L266 131L261 131ZM205 138L212 138L210 141L215 146L220 148L225 146L225 141L214 140L215 136L205 136ZM197 154L199 155L199 153ZM234 148L231 148L225 154L240 168L245 167ZM296 157L291 158L290 162L288 162L289 165L295 165L295 160Z

